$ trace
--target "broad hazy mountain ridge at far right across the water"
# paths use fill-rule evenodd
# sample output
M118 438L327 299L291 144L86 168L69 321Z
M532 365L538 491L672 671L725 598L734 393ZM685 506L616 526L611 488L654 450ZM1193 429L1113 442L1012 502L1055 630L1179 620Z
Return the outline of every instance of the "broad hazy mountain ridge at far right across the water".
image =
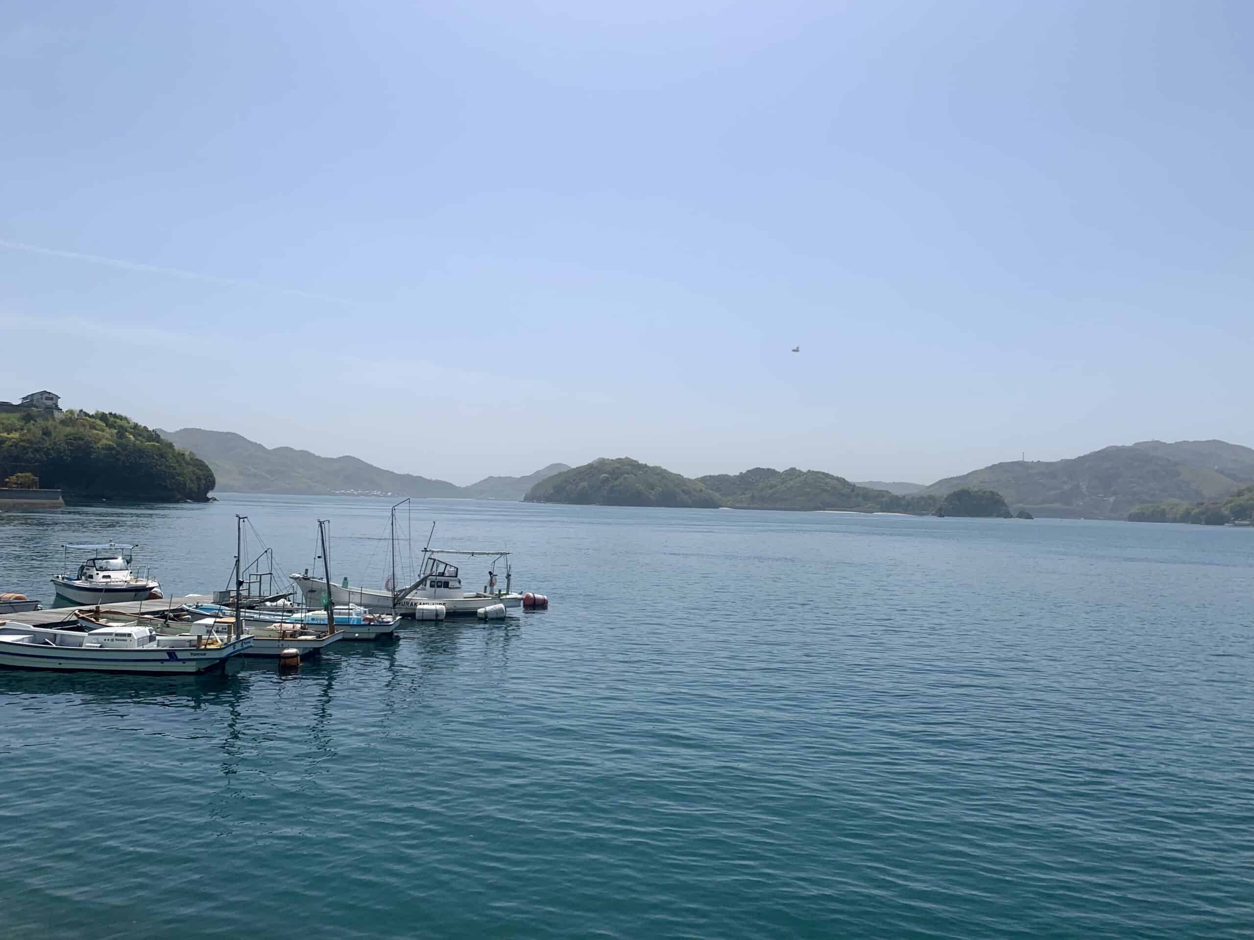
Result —
M1223 500L1244 480L1254 481L1254 450L1249 447L1225 441L1142 441L1071 460L993 464L934 483L924 493L943 496L962 486L993 489L1009 505L1033 515L1124 519L1144 503Z

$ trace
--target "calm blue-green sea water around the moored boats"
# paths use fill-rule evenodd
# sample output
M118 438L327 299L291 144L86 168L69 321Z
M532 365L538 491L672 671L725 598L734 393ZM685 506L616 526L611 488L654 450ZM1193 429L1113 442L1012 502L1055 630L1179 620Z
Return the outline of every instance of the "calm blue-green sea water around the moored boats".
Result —
M0 516L226 587L387 501ZM5 937L1254 934L1254 533L414 504L553 605L410 624L282 676L0 671ZM475 563L466 582L477 584Z

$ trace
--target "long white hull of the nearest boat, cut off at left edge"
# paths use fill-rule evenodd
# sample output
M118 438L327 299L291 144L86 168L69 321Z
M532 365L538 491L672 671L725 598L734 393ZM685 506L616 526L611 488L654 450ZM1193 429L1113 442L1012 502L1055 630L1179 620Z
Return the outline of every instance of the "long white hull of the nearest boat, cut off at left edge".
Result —
M246 654L250 645L251 639L245 637L218 649L78 649L0 638L0 666L48 672L188 676L221 668L232 657Z

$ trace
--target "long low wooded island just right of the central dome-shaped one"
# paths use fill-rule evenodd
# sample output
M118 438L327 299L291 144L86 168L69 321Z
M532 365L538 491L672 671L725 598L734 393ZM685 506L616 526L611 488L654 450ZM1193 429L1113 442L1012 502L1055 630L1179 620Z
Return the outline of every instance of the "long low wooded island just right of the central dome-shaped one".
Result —
M930 513L934 496L898 496L849 483L821 470L772 470L757 466L742 474L701 476L698 483L737 509L846 509L856 513Z

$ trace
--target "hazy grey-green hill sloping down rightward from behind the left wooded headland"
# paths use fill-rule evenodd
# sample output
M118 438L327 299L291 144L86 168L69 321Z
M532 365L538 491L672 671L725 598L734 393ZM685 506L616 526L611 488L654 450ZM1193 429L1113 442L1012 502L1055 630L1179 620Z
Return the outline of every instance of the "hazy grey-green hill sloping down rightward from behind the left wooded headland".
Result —
M391 493L401 496L460 496L461 488L444 480L395 474L357 457L320 457L293 447L263 447L229 431L157 431L202 457L224 493Z

